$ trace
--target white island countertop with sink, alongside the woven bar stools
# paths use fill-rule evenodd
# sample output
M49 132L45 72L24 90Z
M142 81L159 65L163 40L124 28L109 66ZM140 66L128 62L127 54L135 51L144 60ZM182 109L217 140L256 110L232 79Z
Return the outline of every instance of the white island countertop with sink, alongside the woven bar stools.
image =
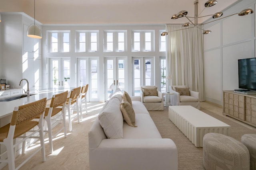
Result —
M54 89L47 89L47 90L39 90L37 92L30 92L30 94L35 94L30 97L20 98L16 100L12 100L9 102L0 102L0 119L2 117L11 115L14 107L21 106L24 104L28 104L31 102L35 102L37 100L40 100L42 98L46 98L47 100L50 100L54 94L59 94L61 92L64 92L66 90L70 91L72 88L54 88ZM23 94L26 95L26 94Z

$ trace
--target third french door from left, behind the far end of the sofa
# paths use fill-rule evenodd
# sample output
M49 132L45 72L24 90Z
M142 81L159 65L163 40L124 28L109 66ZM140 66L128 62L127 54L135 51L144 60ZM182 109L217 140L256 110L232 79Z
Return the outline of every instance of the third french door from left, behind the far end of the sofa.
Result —
M105 58L105 99L116 88L124 91L127 89L127 64L126 58L123 57L114 57L114 58Z

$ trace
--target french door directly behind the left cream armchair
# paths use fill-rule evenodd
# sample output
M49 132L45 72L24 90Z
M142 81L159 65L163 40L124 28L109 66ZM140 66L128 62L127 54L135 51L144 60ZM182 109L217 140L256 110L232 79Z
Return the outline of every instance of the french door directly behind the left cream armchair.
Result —
M133 96L140 96L140 86L154 85L154 58L153 57L133 57Z

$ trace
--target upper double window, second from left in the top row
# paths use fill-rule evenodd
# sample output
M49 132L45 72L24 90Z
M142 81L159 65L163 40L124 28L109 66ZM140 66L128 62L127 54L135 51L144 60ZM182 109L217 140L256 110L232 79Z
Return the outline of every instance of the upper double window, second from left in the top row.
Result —
M98 31L76 31L76 52L98 51Z

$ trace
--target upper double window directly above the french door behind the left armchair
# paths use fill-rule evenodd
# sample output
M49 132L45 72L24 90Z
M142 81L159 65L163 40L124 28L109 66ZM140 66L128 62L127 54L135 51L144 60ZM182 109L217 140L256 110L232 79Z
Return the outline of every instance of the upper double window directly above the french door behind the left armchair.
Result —
M154 31L133 31L132 51L154 51Z

